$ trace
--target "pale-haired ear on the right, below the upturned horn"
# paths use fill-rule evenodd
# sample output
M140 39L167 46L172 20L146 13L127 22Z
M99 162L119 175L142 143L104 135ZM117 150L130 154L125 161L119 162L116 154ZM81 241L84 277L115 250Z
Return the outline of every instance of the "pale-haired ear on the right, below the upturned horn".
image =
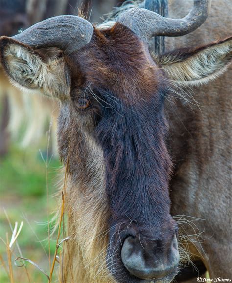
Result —
M232 37L195 49L182 49L155 58L176 84L197 86L222 74L232 60Z

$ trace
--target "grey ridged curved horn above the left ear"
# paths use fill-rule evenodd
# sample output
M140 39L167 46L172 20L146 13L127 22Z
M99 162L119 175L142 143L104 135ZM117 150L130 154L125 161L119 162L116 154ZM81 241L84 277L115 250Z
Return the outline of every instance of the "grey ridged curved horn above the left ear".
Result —
M88 44L92 35L90 22L66 15L38 22L12 38L36 49L57 47L69 55Z

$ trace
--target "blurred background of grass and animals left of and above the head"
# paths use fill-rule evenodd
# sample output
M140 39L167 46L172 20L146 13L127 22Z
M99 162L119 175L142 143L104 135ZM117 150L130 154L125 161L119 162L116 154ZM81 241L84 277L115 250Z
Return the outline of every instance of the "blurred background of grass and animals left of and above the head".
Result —
M0 36L15 35L61 14L81 12L92 23L102 22L113 6L122 3L0 0ZM56 246L56 237L50 234L61 168L56 144L58 113L56 102L11 86L0 65L0 283L47 282L44 273L49 272L49 257ZM17 257L27 258L26 265L26 260L14 261Z

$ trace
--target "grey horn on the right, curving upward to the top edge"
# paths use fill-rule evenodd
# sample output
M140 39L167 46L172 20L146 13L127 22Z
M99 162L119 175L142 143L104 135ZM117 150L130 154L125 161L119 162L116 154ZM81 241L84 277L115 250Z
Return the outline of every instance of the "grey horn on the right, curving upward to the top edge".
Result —
M153 36L181 36L203 24L210 7L211 0L194 0L191 11L182 19L164 18L143 8L133 8L122 14L118 22L145 41Z

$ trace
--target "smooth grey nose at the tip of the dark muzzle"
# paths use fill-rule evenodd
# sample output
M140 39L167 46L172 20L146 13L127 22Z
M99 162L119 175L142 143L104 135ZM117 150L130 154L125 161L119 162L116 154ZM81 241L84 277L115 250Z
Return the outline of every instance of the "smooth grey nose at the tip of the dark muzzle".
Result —
M125 239L121 259L125 268L140 279L163 278L176 271L179 263L179 252L176 249L177 239L173 238L169 248L169 256L166 253L156 252L156 241L151 240L143 247L139 239L128 237Z

